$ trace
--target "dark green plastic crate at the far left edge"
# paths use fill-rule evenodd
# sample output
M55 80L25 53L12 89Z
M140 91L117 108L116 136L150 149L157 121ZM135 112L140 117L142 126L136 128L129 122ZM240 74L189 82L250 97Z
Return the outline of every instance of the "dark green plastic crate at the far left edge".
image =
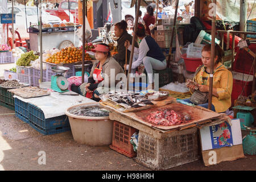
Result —
M15 110L14 94L8 92L7 89L0 88L0 105L7 107L8 109Z

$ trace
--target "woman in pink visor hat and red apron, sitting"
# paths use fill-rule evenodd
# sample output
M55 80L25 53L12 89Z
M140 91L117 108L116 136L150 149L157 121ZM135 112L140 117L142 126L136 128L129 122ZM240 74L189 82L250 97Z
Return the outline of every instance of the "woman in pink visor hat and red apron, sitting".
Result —
M115 80L117 74L124 74L125 72L110 55L110 48L107 44L97 44L92 51L95 52L96 61L93 64L88 82L79 86L79 93L92 100L100 101L98 96L105 91L109 92L110 86L115 86L119 82L119 80ZM110 74L110 71L112 74Z

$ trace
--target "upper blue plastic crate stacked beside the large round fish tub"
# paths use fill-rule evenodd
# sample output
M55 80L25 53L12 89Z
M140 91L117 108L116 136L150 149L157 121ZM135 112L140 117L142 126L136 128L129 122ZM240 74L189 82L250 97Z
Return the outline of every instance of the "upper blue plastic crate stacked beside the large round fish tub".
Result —
M55 129L56 127L69 126L67 115L48 118L44 117L44 113L38 107L28 104L28 120L44 130Z

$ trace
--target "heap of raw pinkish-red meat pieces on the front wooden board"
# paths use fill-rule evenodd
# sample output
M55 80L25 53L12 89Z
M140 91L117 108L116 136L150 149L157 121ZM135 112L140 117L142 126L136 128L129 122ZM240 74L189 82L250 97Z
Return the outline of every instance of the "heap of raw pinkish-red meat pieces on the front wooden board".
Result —
M147 115L147 121L156 125L172 126L191 121L189 114L177 114L174 110L158 110Z

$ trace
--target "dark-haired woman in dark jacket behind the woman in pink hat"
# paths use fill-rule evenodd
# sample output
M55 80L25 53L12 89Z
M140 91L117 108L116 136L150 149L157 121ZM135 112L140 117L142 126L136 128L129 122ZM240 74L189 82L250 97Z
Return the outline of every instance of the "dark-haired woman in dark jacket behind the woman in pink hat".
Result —
M125 55L126 55L126 48L125 48L125 41L129 40L130 43L133 42L133 37L128 34L127 30L127 23L125 20L122 20L121 22L115 23L114 31L115 36L117 36L119 39L117 39L117 54L115 54L113 57L117 62L121 65L123 68L123 65L125 65ZM135 47L138 47L137 42L135 42ZM127 51L127 60L130 60L130 51Z

